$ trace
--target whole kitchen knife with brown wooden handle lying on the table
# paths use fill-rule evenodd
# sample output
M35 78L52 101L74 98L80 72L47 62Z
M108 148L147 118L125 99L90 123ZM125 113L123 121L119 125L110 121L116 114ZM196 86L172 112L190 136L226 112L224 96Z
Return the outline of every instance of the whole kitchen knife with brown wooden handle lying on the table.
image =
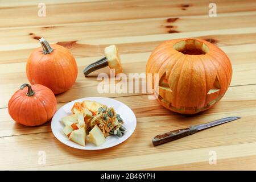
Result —
M223 123L234 121L234 120L240 119L240 118L241 117L221 118L221 119L217 119L217 120L212 121L212 122L208 122L208 123L204 123L204 124L200 124L200 125L195 125L195 126L190 126L188 128L185 128L185 129L173 130L173 131L170 131L168 133L164 133L164 134L161 134L161 135L156 135L152 139L152 143L153 143L154 146L158 146L159 144L163 144L163 143L166 143L166 142L171 142L173 140L183 138L183 137L186 137L188 135L195 134L197 131L208 129L209 127L221 125Z

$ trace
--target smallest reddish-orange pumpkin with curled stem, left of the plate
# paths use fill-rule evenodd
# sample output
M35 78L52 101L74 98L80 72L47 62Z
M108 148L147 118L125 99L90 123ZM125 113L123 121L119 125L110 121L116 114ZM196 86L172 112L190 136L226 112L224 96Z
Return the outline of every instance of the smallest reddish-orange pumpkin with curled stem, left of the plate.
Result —
M57 101L52 90L43 85L23 84L8 103L14 121L26 126L43 125L52 118Z

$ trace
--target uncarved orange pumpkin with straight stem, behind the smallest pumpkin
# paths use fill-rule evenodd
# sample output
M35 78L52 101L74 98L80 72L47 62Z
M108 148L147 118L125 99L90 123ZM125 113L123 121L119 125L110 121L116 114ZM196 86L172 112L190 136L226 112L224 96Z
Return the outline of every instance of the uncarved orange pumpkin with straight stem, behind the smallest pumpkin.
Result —
M63 46L48 44L41 38L42 47L35 49L27 60L27 78L34 84L47 86L53 93L67 91L76 81L77 64L71 52Z

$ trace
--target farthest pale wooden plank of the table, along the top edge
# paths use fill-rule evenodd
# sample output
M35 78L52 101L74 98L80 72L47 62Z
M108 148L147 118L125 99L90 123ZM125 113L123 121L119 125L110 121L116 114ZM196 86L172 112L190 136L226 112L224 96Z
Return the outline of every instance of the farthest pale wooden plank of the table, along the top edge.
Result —
M255 1L215 1L218 3L218 13L233 13L240 11L254 11ZM230 6L230 4L233 4ZM46 3L47 4L47 3ZM188 5L186 10L183 6ZM38 19L38 4L34 6L2 7L1 20L5 24L1 27L47 25L56 23L80 23L106 20L160 18L163 16L184 16L208 14L209 3L197 0L195 3L187 1L154 1L132 0L111 2L75 2L55 3L47 5L47 18ZM72 7L72 8L71 8ZM104 7L108 7L105 8ZM72 12L75 10L76 13ZM23 15L22 21L19 20Z

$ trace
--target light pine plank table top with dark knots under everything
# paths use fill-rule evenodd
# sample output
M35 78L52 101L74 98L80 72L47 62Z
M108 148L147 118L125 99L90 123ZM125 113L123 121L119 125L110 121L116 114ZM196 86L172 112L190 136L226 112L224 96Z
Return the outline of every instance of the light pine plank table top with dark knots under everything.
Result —
M256 169L256 1L216 0L217 17L208 16L209 2L68 0L0 2L0 169ZM65 146L51 131L15 123L7 103L26 77L26 61L38 39L71 50L79 66L75 85L57 97L57 106L82 97L111 97L130 106L137 117L134 134L118 146L81 151ZM125 73L143 73L152 49L175 38L209 40L233 64L233 79L224 98L193 117L164 109L147 94L99 94L97 73L82 69L116 44ZM242 119L153 147L157 134L214 119ZM40 163L46 152L46 164ZM209 164L211 151L217 164Z

